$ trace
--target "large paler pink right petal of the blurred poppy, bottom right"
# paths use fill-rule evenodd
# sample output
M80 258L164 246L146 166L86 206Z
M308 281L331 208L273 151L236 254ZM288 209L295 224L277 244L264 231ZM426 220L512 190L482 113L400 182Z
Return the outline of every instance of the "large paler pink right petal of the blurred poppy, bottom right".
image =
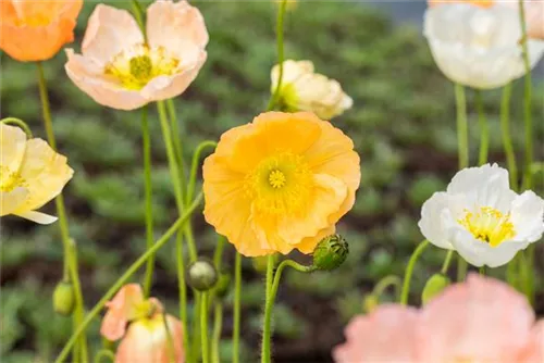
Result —
M472 274L421 313L420 362L519 362L534 313L510 286Z

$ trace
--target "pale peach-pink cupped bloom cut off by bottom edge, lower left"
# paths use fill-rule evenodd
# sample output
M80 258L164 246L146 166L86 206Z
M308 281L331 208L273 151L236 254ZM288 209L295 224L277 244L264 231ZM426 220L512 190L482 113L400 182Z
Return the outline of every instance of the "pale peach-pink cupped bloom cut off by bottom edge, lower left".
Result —
M168 324L168 329L166 329ZM154 314L128 326L115 354L115 363L184 363L182 323Z

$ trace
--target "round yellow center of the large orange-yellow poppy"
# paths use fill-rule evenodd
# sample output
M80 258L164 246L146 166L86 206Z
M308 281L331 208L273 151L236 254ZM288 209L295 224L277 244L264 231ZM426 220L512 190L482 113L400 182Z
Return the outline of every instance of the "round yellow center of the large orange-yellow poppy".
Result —
M261 161L246 176L245 189L264 213L297 213L308 201L312 175L300 155L279 153Z

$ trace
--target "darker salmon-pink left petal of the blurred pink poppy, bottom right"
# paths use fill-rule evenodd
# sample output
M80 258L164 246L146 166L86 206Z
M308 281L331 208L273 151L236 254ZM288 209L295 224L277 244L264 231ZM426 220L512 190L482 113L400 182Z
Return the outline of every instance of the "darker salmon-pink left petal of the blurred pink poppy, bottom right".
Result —
M396 304L351 320L347 341L333 350L336 363L419 362L416 351L417 310Z

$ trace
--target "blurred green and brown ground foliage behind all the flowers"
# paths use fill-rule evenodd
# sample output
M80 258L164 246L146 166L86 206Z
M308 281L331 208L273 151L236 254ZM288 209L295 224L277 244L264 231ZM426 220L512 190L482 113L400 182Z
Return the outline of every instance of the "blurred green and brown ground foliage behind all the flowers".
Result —
M129 2L104 1L118 8ZM86 1L77 26L79 47L86 18L97 2ZM194 1L210 33L209 59L193 86L175 100L180 137L189 151L205 139L218 139L230 127L248 123L265 108L269 72L275 62L272 1ZM330 362L331 348L343 340L345 323L362 310L363 296L390 274L401 275L422 239L419 210L434 191L445 188L457 170L453 86L435 67L417 25L396 25L379 10L354 2L300 2L286 18L286 57L309 59L317 71L338 79L354 98L353 110L333 123L355 141L362 162L362 184L354 210L338 226L349 241L347 262L333 273L287 272L275 316L276 362ZM65 55L45 64L60 151L75 176L64 189L71 234L77 241L79 268L88 308L144 250L144 191L140 115L99 107L66 77ZM0 116L28 122L44 137L34 64L1 55ZM535 150L544 159L544 87L533 91ZM515 84L512 136L522 161L522 83ZM472 163L479 132L473 93L468 92ZM498 102L500 91L484 93L491 122L490 160L503 163ZM172 187L160 125L151 107L153 215L160 236L175 218ZM544 192L544 173L536 176ZM46 210L53 211L53 203ZM217 236L200 212L194 218L202 255L211 256ZM51 292L62 274L58 226L37 226L20 218L1 222L2 363L51 362L70 335L70 318L52 312ZM158 256L153 295L176 312L174 245ZM537 265L544 268L539 246ZM300 261L304 256L294 255ZM445 252L425 251L412 290L419 302L424 280L436 272ZM228 246L225 262L232 265ZM455 268L452 270L455 274ZM504 270L491 272L504 276ZM243 362L256 361L259 347L263 277L244 262ZM537 311L544 313L543 279L537 275ZM386 296L385 300L393 296ZM226 298L223 362L228 362L232 297ZM91 326L98 348L99 322Z

